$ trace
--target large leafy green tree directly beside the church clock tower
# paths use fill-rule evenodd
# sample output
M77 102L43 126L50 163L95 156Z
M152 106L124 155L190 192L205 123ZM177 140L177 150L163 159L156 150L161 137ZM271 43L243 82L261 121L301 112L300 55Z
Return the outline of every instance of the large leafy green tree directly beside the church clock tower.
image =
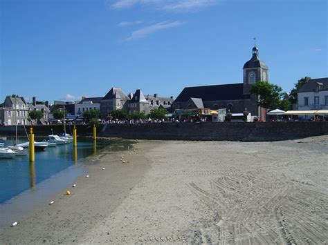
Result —
M275 109L280 105L282 88L268 81L257 81L250 89L250 93L259 97L257 104L266 109Z

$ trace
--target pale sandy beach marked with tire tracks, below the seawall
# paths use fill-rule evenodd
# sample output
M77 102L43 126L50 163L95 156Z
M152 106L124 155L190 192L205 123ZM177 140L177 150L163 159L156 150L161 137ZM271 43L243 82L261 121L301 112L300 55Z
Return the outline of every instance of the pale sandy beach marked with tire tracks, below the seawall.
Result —
M0 244L327 244L327 153L328 136L138 141L101 153Z

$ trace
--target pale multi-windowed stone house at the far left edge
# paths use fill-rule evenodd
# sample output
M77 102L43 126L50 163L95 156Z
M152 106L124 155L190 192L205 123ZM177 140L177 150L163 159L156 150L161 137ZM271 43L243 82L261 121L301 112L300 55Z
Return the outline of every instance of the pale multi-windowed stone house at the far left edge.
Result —
M23 97L7 96L0 108L0 125L30 125L28 110Z

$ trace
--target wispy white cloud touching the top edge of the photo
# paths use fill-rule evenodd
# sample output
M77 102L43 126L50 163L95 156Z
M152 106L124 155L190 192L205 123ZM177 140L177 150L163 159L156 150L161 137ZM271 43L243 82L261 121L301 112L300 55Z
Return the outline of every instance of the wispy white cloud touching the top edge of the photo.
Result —
M113 9L131 8L137 4L153 6L163 10L197 10L204 8L220 0L116 0L111 4Z

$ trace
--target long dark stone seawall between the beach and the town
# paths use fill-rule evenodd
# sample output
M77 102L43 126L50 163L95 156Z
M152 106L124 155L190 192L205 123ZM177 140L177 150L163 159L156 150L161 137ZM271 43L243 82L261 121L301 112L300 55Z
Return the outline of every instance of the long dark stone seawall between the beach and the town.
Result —
M89 125L76 126L79 136L91 136ZM33 126L35 135L46 136L64 132L62 125ZM26 127L29 132L29 126ZM72 134L73 126L66 126ZM223 122L223 123L164 123L164 124L110 124L99 126L97 135L125 139L177 139L177 140L230 140L230 141L279 141L304 137L328 135L327 121L293 122ZM24 127L18 134L26 135ZM1 136L15 135L15 126L0 126Z

